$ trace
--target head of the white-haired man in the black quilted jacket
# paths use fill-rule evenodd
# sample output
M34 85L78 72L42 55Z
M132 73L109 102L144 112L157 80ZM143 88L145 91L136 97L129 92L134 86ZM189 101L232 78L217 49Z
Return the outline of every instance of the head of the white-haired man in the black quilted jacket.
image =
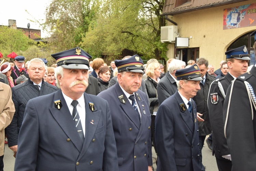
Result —
M32 61L27 71L28 71L28 76L32 82L34 83L41 82L43 80L44 73L45 73L44 64L43 62Z

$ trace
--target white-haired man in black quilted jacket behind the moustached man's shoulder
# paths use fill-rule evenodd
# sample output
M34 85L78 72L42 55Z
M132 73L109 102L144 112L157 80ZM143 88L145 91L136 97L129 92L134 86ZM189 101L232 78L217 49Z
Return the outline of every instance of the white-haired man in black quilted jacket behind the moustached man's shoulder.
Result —
M6 131L8 132L8 146L14 152L17 152L18 133L22 126L27 102L32 98L57 91L57 87L43 80L46 67L42 59L34 58L30 60L27 70L29 74L28 81L12 88L12 100L15 105L15 113Z

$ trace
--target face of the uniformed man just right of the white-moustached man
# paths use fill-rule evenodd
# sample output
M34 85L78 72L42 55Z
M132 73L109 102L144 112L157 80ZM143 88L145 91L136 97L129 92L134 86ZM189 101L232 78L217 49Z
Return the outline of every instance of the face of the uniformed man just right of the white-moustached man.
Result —
M138 72L125 72L117 74L118 83L129 94L132 94L141 86L142 73Z

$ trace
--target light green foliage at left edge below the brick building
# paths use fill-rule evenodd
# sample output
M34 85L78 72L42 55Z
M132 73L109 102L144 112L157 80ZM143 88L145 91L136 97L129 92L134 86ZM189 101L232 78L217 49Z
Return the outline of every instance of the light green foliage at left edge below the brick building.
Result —
M19 55L19 51L26 51L35 44L36 42L26 37L21 30L0 26L0 52L4 57L11 52Z

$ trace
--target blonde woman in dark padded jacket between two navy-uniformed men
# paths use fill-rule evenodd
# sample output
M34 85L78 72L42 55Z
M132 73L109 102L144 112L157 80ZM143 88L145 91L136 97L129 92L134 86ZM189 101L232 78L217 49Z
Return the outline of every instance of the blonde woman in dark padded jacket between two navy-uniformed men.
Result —
M155 148L155 117L158 109L158 96L156 87L160 81L159 77L161 75L160 64L158 62L152 62L147 65L145 80L145 87L147 90L148 98L150 99L150 113L151 113L151 141L153 142ZM155 148L156 151L156 148ZM157 153L157 151L156 151Z

